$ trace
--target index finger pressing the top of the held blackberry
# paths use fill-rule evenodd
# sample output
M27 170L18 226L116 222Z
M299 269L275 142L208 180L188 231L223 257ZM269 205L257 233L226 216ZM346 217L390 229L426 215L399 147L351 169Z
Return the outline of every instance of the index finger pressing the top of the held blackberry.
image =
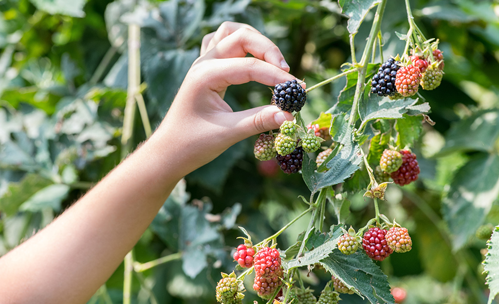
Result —
M198 79L216 92L225 90L230 85L256 81L267 86L274 86L287 80L296 79L288 72L257 58L211 59L198 63L193 75L202 75Z

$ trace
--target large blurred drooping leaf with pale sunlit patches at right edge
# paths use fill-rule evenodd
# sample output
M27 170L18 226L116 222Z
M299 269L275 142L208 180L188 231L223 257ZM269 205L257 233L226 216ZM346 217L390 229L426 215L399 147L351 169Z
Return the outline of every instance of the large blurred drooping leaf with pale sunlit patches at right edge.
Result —
M467 243L498 198L497 172L499 155L479 153L455 173L442 205L454 250Z

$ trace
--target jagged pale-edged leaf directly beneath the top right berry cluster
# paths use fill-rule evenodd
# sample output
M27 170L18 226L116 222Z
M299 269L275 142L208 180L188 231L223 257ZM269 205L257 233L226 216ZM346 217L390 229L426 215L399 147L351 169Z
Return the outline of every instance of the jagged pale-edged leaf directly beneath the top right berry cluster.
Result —
M373 119L394 119L402 118L402 114L407 112L406 107L415 105L417 99L404 98L395 101L385 97L380 99L379 96L371 94L370 97L364 95L359 104L359 114L362 120L362 125Z

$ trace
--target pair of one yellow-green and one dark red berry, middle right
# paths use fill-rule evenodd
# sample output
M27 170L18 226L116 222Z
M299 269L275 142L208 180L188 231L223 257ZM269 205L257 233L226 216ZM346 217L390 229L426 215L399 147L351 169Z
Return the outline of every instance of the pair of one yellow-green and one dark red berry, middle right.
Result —
M393 182L403 186L418 179L419 173L416 154L409 150L386 149L374 170L374 177L378 182L386 182L391 177Z

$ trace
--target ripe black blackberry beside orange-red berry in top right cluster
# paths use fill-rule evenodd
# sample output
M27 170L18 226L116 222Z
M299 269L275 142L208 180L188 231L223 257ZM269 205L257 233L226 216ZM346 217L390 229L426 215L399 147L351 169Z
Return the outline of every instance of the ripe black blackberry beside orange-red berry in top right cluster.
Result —
M378 73L371 81L371 93L378 94L378 96L393 96L397 92L395 77L400 68L399 64L400 61L390 58L379 67Z

